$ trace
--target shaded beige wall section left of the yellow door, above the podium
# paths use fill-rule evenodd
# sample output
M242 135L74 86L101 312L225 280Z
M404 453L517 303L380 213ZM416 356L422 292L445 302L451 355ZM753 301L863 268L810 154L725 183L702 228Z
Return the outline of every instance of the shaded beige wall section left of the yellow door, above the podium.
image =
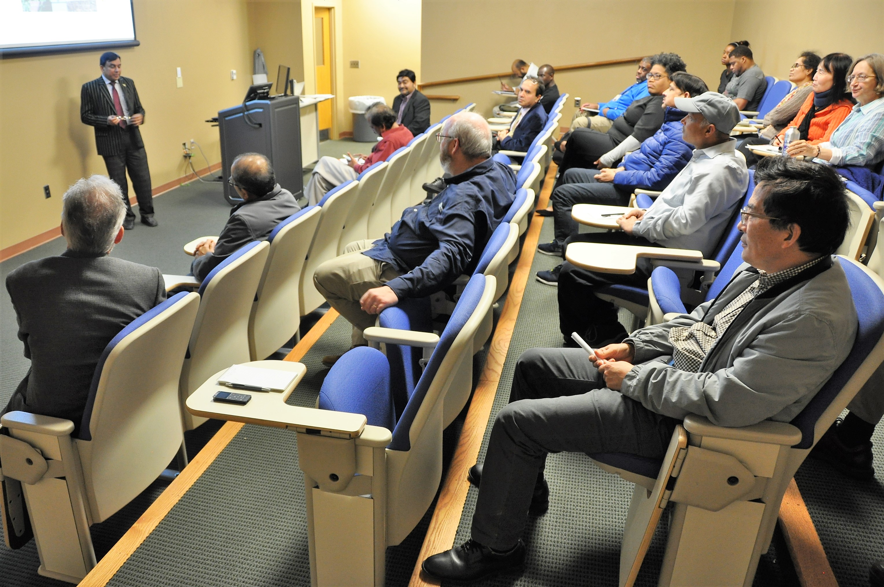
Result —
M300 0L250 0L248 3L248 46L260 48L267 64L267 80L276 82L279 65L292 68L293 80L304 80L301 48ZM248 70L251 75L252 70ZM273 88L276 92L276 87Z

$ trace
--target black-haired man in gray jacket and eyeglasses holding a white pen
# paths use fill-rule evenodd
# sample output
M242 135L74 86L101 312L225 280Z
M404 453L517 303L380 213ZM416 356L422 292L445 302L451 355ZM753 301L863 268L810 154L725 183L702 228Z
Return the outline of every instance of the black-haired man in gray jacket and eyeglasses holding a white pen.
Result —
M834 251L850 222L847 194L824 165L758 163L743 210L743 265L713 301L589 354L535 348L515 366L495 418L471 537L423 561L469 581L525 559L528 515L550 507L546 455L626 453L659 459L686 415L718 426L790 422L850 353L857 311ZM566 507L552 499L553 507Z

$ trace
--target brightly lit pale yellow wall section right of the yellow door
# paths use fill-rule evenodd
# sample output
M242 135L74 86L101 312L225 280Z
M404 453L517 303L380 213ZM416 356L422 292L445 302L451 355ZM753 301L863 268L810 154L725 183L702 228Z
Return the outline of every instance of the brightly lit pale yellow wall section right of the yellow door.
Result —
M399 94L396 73L411 69L421 79L421 0L344 0L344 88L351 95ZM359 60L358 69L350 67ZM339 131L351 131L349 111Z

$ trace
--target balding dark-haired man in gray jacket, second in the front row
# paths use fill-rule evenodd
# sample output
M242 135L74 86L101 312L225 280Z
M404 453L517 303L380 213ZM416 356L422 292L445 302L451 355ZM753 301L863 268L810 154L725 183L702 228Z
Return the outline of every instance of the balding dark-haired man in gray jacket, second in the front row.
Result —
M253 240L266 240L280 222L301 210L292 193L276 182L270 159L258 153L243 153L233 159L230 184L242 203L230 211L217 239L197 245L190 271L200 281L238 248Z

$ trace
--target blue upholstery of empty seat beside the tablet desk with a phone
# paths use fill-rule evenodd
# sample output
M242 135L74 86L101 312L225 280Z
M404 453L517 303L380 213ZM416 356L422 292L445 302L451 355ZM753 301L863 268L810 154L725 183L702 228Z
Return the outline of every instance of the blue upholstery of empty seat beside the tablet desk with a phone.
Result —
M476 310L484 288L483 275L469 280L398 420L390 385L391 362L383 353L369 347L354 348L334 364L320 390L319 408L363 414L370 425L392 429L392 442L388 446L391 450L408 451L411 447L408 431L423 397L454 339Z

